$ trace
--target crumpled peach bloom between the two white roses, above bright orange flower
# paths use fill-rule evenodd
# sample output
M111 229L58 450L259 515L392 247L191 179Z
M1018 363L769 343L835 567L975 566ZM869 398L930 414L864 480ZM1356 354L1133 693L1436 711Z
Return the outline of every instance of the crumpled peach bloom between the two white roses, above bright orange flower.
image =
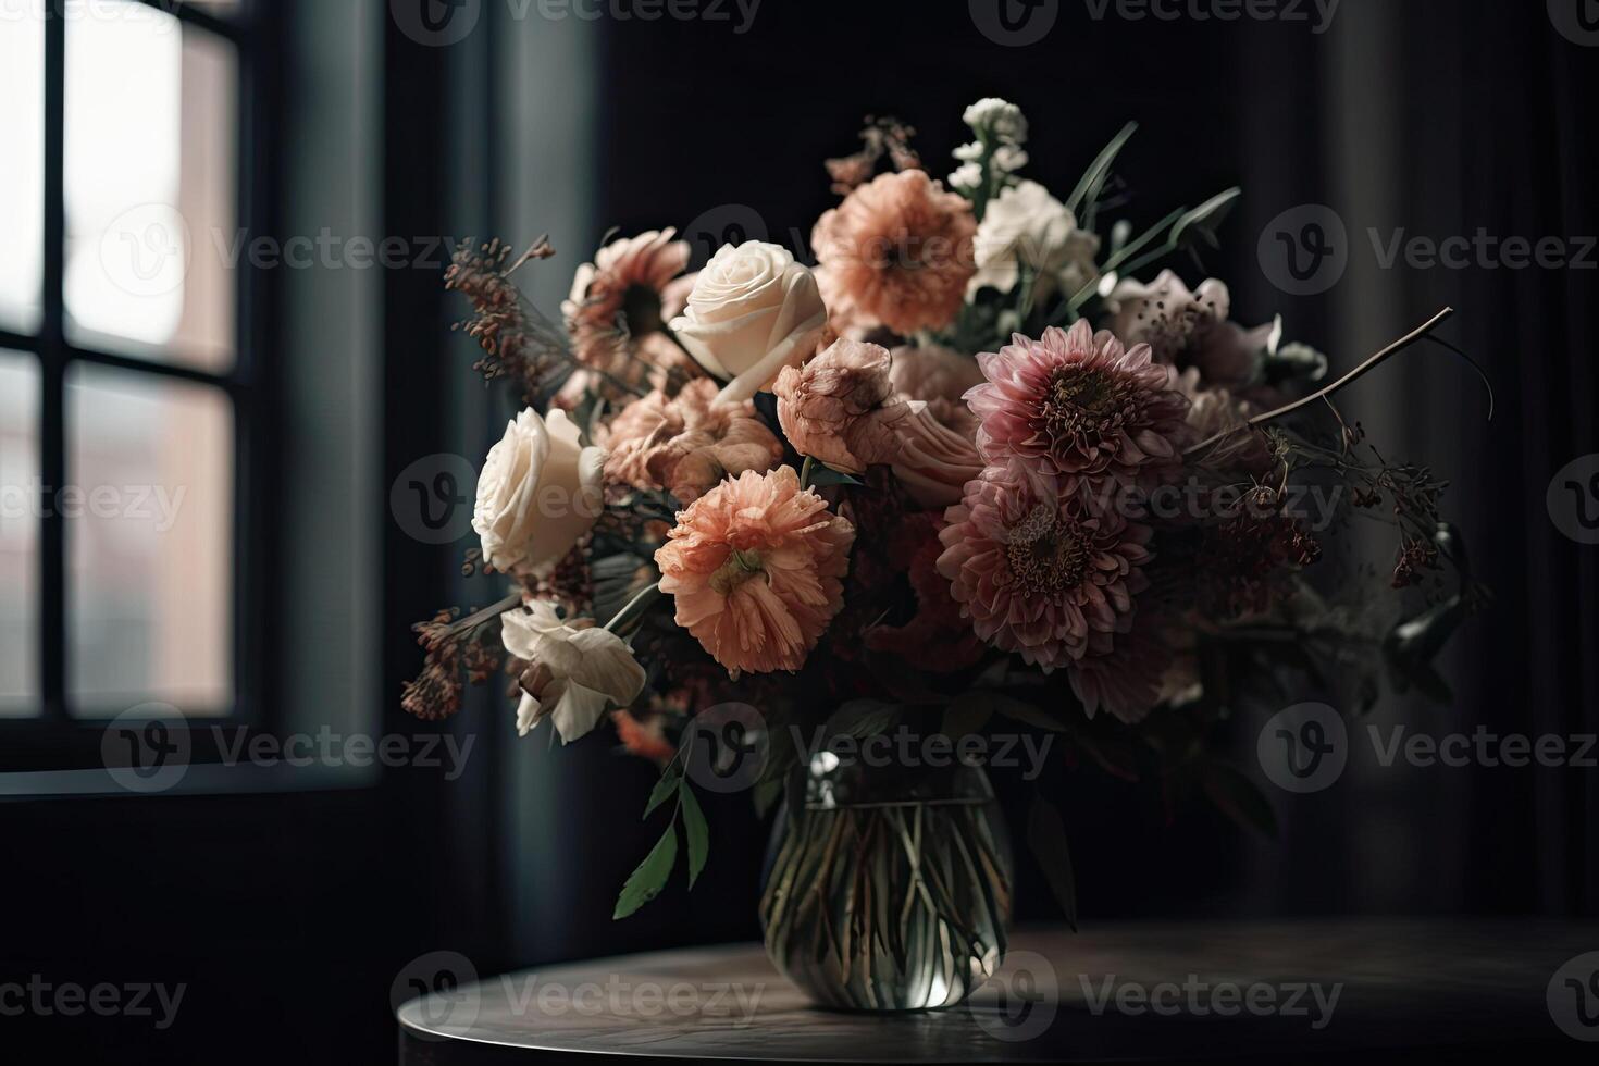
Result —
M606 428L606 476L635 489L665 489L688 505L729 473L771 470L784 446L755 404L716 404L716 382L700 377L673 398L652 392Z

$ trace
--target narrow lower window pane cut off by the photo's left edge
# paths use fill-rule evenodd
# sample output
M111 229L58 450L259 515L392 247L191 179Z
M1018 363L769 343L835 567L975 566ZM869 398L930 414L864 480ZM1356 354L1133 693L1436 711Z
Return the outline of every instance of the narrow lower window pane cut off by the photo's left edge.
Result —
M0 352L0 718L38 713L38 364Z

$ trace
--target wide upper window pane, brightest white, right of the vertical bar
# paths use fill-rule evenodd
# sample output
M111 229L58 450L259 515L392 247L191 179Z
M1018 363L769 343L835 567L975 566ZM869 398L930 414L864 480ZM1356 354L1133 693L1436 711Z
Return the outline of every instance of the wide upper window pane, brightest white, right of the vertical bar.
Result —
M233 363L238 58L130 0L67 21L69 336Z

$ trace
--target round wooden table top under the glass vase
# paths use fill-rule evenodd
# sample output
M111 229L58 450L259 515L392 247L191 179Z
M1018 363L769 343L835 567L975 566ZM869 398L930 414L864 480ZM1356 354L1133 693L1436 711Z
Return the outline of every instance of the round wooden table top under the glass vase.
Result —
M1585 957L1586 956L1586 957ZM1012 938L972 1000L812 1008L758 945L619 956L464 984L398 1012L401 1063L1599 1063L1599 924L1107 925Z

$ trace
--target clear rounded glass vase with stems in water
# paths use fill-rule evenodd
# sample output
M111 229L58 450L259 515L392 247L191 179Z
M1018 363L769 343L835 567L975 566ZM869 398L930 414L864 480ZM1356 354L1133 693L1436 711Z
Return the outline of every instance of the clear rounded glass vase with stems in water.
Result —
M953 1007L999 967L1011 847L975 766L800 766L761 887L766 951L815 1004Z

